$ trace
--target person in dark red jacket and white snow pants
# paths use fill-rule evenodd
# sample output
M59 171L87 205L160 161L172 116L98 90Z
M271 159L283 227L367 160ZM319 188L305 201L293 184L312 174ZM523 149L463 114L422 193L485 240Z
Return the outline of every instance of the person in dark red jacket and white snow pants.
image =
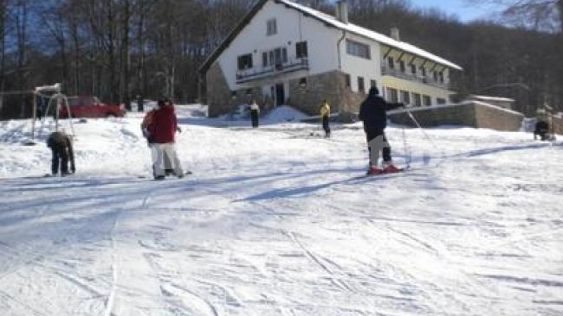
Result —
M148 115L148 114L147 114ZM142 124L141 124L142 127ZM153 176L163 180L166 175L166 159L170 159L171 168L178 178L184 176L175 148L175 133L181 131L177 124L174 105L169 100L158 100L157 108L148 118L146 126L147 140L153 158Z

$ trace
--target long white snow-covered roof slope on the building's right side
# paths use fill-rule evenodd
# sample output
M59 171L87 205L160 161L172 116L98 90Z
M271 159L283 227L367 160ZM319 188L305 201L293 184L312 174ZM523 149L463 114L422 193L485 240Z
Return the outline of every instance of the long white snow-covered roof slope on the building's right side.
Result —
M318 18L319 20L322 20L323 22L326 22L329 25L332 25L338 29L343 29L346 30L347 32L352 32L362 37L367 37L368 39L372 39L386 46L391 46L393 48L400 49L401 51L412 53L413 55L418 55L419 57L432 60L434 62L437 62L438 64L448 66L455 70L463 70L462 67L455 65L455 63L453 62L445 60L427 51L424 51L424 49L418 48L417 46L405 43L404 41L397 41L396 39L392 39L391 37L388 37L384 34L374 32L371 29L366 29L365 27L360 27L359 25L355 25L353 23L341 22L333 15L322 13L313 8L309 8L308 6L296 4L295 2L289 0L276 0L276 1L285 4L286 6L289 6L291 8L295 8L296 10L301 11L303 13L307 13L311 16L314 16L315 18Z

